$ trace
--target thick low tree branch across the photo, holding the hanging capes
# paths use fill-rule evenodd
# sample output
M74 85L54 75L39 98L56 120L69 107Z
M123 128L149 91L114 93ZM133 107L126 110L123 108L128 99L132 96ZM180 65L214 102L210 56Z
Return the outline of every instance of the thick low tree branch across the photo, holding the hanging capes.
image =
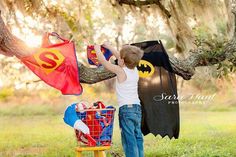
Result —
M23 41L9 32L0 16L0 53L21 58L34 52L35 49L29 48ZM233 38L220 49L218 47L212 47L210 50L198 48L184 60L179 60L173 56L170 56L169 59L174 73L185 80L189 80L195 73L195 67L214 65L225 59L236 65L236 41ZM81 63L79 63L79 72L81 83L88 84L115 77L114 73L103 68L89 68Z

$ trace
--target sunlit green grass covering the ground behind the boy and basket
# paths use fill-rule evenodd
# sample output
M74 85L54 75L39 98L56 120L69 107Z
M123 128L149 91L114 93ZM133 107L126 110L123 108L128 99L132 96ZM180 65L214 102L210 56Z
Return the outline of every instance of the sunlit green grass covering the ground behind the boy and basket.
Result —
M9 112L0 107L1 157L75 156L74 131L62 114L50 107L40 112L26 106ZM24 112L25 111L25 112ZM36 115L34 115L36 113ZM53 114L52 114L53 113ZM117 115L116 115L117 118ZM112 151L122 154L116 119ZM236 112L182 112L178 140L145 136L145 157L233 157L236 156ZM87 155L86 155L87 156Z

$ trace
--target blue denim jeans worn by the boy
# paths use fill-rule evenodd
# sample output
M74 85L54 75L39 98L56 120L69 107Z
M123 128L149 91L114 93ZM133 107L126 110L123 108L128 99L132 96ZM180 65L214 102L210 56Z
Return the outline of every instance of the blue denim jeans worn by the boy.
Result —
M124 105L119 109L121 141L126 157L144 156L141 116L139 104Z

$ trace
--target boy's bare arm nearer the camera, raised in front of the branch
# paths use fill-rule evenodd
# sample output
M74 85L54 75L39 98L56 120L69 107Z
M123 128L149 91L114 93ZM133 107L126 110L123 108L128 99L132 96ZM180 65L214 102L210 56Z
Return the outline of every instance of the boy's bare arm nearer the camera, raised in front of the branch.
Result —
M116 75L122 73L122 68L118 65L114 65L107 61L101 52L101 46L100 45L94 45L94 50L96 51L96 55L98 58L98 61L109 71L115 73Z

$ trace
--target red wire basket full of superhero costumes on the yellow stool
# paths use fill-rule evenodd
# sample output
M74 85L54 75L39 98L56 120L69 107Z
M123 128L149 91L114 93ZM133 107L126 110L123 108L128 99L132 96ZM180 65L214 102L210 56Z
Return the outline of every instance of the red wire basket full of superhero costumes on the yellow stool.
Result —
M79 145L111 145L115 108L86 109L78 112L77 115L90 130L90 134L83 134L81 131L75 130Z

